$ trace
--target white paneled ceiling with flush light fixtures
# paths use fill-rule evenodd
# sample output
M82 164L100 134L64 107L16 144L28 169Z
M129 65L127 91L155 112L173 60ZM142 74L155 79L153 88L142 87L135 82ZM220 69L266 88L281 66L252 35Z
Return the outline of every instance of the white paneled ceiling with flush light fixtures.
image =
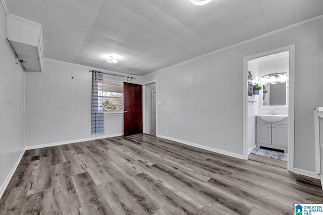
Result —
M133 75L323 14L323 0L6 0L42 25L44 57ZM117 54L119 63L103 56Z

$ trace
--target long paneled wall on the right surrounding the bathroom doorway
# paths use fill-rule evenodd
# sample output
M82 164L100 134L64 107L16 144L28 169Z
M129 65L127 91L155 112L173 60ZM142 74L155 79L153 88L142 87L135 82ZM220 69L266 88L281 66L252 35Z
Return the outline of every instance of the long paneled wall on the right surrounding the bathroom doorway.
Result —
M296 79L294 165L315 172L313 110L323 106L323 19L142 77L143 83L158 83L157 135L241 156L243 57L291 44ZM223 139L228 139L227 145Z

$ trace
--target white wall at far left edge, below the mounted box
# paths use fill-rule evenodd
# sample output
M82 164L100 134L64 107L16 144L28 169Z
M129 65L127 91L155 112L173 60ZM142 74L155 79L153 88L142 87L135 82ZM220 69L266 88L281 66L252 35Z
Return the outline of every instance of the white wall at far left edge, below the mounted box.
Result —
M14 52L6 38L6 14L0 5L0 193L24 149L25 73L21 65L15 63Z

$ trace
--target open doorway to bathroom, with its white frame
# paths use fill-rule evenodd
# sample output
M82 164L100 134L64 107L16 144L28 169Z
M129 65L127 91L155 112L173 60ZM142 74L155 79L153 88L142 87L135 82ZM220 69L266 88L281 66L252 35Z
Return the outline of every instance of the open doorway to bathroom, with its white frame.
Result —
M293 169L294 46L244 58L244 159Z

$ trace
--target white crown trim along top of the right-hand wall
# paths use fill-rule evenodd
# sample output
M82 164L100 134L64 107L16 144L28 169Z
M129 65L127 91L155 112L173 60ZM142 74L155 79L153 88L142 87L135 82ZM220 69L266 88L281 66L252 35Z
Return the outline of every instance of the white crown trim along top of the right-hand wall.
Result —
M275 30L275 31L272 31L272 32L269 32L269 33L266 33L266 34L263 34L263 35L260 35L260 36L257 36L257 37L254 37L254 38L251 38L251 39L248 39L248 40L245 40L243 42L240 42L240 43L236 43L234 45L231 45L231 46L227 46L227 47L224 47L222 49L218 49L218 50L215 50L215 51L212 51L212 52L209 52L207 54L203 54L203 55L200 55L198 57L194 57L192 59L189 59L189 60L186 60L186 61L183 61L183 62L180 62L180 63L177 63L177 64L174 64L174 65L171 65L171 66L168 66L166 68L161 68L159 70L156 70L156 71L153 71L152 73L149 73L147 75L144 75L142 77L145 77L145 76L148 76L148 75L151 75L153 73L157 73L158 71L163 71L165 69L168 69L168 68L171 68L171 67L174 67L174 66L177 66L177 65L180 65L180 64L183 64L183 63L187 63L187 62L190 62L190 61L193 61L193 60L196 60L196 59L199 59L199 58L202 58L202 57L205 57L205 56L208 56L208 55L211 55L211 54L214 54L214 53L218 53L218 52L221 52L221 51L224 51L224 50L227 50L227 49L230 49L230 48L233 48L233 47L236 47L236 46L239 46L239 45L242 45L242 44L245 44L245 43L248 43L248 42L251 42L251 41L254 41L254 40L257 40L257 39L260 39L260 38L263 38L263 37L266 37L266 36L269 36L269 35L272 35L272 34L276 34L278 32L281 32L281 31L285 31L287 29L291 29L291 28L294 28L294 27L297 27L297 26L300 26L300 25L303 25L303 24L306 24L306 23L309 23L309 22L312 22L312 21L315 21L315 20L318 20L318 19L321 19L323 18L323 15L319 15L317 17L313 17L313 18L310 18L308 20L304 20L302 22L298 22L298 23L295 23L293 25L290 25L290 26L287 26L285 28L281 28L281 29L278 29L278 30Z

